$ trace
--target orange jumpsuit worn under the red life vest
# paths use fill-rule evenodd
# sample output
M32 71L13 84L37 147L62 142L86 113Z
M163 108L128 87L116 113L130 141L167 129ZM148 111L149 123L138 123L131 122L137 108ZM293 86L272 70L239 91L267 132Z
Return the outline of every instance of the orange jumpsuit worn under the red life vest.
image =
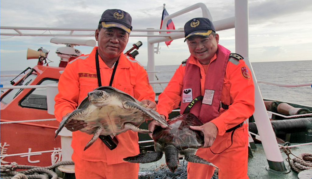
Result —
M216 60L217 56L212 57L210 63ZM206 78L205 70L209 65L202 65L193 58L189 63L195 64L200 68L201 73L201 89L204 95L204 84ZM227 63L225 76L223 79L223 87L221 94L221 102L231 104L229 109L220 108L219 117L213 119L218 128L218 134L213 145L209 148L200 148L197 150L197 155L212 162L220 168L220 179L241 179L248 178L247 163L248 163L248 126L244 124L235 130L233 135L233 144L231 145L231 134L226 130L242 123L254 112L254 84L248 67L243 60L239 63ZM246 72L249 74L244 74ZM168 113L172 109L177 108L181 101L181 93L183 87L183 76L185 65L180 65L168 86L159 95L158 112L168 118ZM208 114L207 114L208 115ZM228 149L227 149L228 148ZM224 152L222 152L226 149ZM221 154L212 154L220 153ZM188 163L188 178L189 179L210 179L215 168L205 164Z

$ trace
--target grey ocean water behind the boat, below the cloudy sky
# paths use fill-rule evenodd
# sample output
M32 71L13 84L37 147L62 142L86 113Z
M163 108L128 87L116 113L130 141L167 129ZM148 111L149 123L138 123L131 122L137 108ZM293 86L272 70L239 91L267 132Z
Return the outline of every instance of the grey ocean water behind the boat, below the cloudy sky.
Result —
M251 63L257 80L271 81L280 84L302 84L312 82L312 61L288 61L288 62L255 62ZM178 65L155 66L155 71L175 71ZM22 71L1 71L1 75L15 75ZM174 72L157 73L159 81L170 80ZM2 85L10 85L14 77L1 77ZM155 79L157 80L157 79ZM17 81L17 80L14 80ZM163 88L167 84L162 84ZM299 103L312 106L312 88L303 87L280 87L259 83L263 98L279 101ZM159 84L154 87L155 92L163 89Z

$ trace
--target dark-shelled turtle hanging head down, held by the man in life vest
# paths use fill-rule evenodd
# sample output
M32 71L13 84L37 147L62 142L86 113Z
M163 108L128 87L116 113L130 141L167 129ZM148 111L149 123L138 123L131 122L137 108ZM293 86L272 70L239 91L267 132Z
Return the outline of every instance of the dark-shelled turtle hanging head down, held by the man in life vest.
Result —
M217 168L214 164L195 155L198 148L204 145L204 137L190 126L201 126L202 122L192 113L186 113L168 121L172 127L156 127L153 133L155 152L144 152L133 157L124 158L131 163L150 163L158 161L165 153L166 163L171 172L178 168L179 154L193 163L203 163ZM219 169L219 168L217 168Z

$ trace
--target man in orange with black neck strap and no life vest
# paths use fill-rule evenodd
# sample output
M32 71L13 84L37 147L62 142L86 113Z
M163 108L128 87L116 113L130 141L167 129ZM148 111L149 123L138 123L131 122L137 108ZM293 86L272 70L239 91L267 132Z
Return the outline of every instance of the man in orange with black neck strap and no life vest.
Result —
M127 12L119 9L104 11L95 31L98 47L93 48L90 54L71 61L60 77L59 94L55 97L58 121L75 110L88 92L99 87L100 83L102 86L110 85L111 80L112 87L130 94L148 108L156 109L155 93L149 85L147 72L139 62L123 54L131 30L131 16ZM100 75L97 75L96 58ZM100 82L98 76L101 76ZM85 126L84 122L76 120L65 126L73 131L71 146L74 149L72 159L76 179L137 179L139 165L123 160L139 153L137 132L129 130L117 135L119 144L113 150L98 139L83 151L92 138L92 135L78 131Z

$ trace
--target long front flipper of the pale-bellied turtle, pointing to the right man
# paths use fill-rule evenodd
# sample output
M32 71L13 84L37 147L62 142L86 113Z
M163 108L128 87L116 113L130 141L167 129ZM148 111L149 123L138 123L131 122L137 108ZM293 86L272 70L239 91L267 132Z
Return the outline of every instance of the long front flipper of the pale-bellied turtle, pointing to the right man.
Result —
M160 124L167 126L171 129L170 125L167 123L165 119L163 119L156 111L153 109L148 109L140 106L138 103L134 103L131 101L126 101L123 103L125 108L137 108L142 111L145 115L149 116L150 118L154 119L155 121L159 122Z

